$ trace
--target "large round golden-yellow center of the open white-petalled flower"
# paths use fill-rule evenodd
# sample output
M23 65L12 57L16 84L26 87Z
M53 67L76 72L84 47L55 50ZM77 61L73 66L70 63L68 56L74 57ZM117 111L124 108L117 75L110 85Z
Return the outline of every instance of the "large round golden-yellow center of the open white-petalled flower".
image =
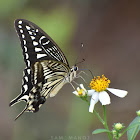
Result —
M94 77L94 79L92 79L90 82L90 88L95 89L97 92L101 92L106 90L106 88L109 87L109 84L110 80L107 79L104 75L102 75L102 77L97 76L97 78Z

